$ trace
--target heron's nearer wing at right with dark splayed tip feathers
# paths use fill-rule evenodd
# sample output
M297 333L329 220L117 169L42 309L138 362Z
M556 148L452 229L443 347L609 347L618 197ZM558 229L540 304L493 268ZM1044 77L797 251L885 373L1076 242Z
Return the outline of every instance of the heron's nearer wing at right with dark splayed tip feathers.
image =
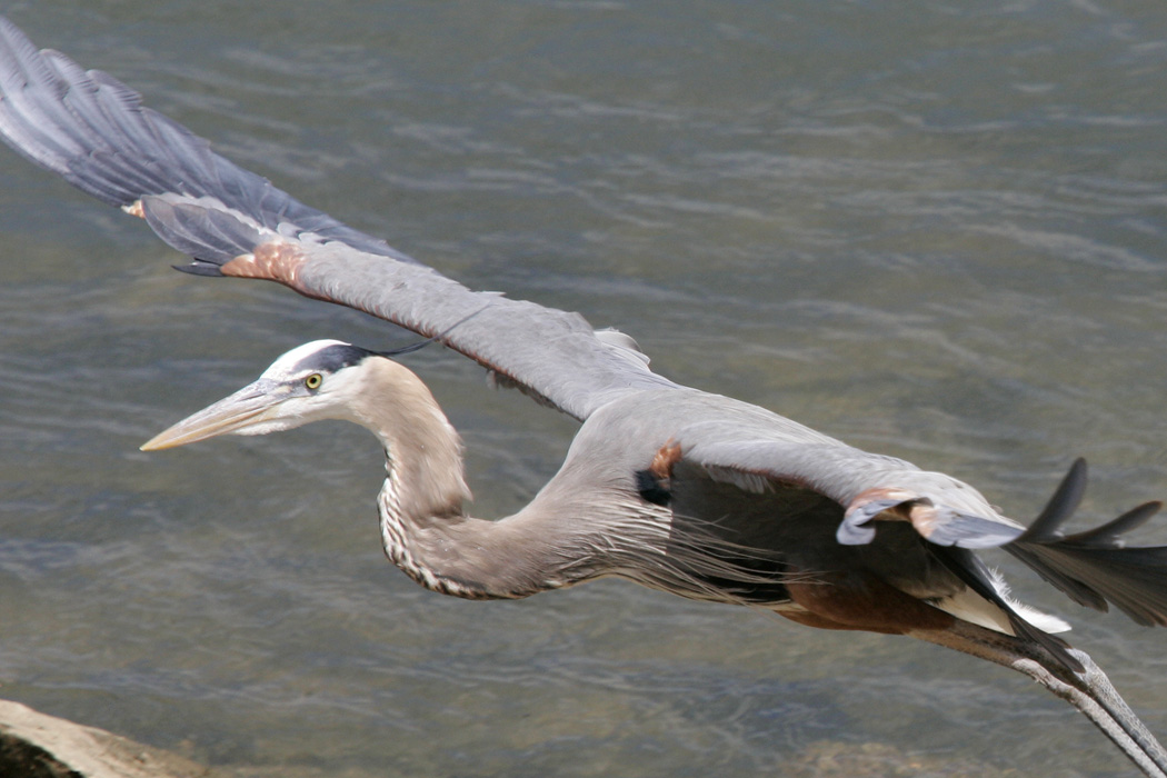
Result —
M908 521L953 568L964 567L958 560L969 560L962 549L1000 547L1081 605L1105 611L1113 604L1139 624L1167 626L1167 547L1127 546L1123 537L1161 505L1146 503L1093 530L1067 534L1062 526L1085 490L1082 460L1025 528L951 476L868 454L812 430L785 437L712 440L689 448L683 439L678 442L685 457L711 477L753 490L791 484L836 500L843 517L836 537L843 545L878 542L879 521ZM953 572L967 575L970 569ZM970 576L966 583L993 598L984 581Z

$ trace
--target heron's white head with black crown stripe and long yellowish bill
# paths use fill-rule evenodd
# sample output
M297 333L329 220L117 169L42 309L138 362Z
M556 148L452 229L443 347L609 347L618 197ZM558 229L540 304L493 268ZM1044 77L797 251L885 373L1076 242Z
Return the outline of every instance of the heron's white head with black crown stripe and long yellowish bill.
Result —
M217 435L266 435L322 419L349 419L362 365L373 351L313 341L282 355L252 384L152 437L151 451Z

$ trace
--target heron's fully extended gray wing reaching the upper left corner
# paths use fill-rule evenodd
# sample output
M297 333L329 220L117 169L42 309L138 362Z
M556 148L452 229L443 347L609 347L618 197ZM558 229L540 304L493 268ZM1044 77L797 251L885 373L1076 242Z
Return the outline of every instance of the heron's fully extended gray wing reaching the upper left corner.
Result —
M141 105L107 73L39 51L0 19L0 135L98 199L144 217L193 262L278 281L425 336L537 399L586 419L621 393L673 386L631 338L578 314L471 292L300 203Z

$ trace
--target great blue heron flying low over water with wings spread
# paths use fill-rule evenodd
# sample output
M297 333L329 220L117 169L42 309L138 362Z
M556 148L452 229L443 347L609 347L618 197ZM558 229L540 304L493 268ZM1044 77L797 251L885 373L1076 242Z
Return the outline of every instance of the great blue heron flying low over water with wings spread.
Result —
M754 405L679 386L630 338L580 316L474 293L310 209L144 108L112 77L37 51L0 21L0 133L27 157L140 216L188 272L267 279L368 311L485 366L582 422L517 514L469 518L460 443L428 390L386 355L336 341L280 357L251 386L145 448L341 418L386 453L387 555L422 586L522 597L619 575L837 630L908 635L1018 670L1067 699L1149 776L1167 752L1068 626L1013 601L973 551L1001 547L1076 602L1167 624L1167 549L1127 548L1148 503L1092 531L1060 526L1077 462L1029 528L974 489L868 454Z

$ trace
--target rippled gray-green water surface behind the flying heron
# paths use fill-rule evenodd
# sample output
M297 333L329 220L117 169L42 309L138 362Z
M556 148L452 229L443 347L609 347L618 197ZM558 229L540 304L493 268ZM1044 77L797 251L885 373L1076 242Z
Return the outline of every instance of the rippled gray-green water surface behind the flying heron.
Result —
M1167 496L1161 2L6 13L306 202L616 325L679 381L1019 519L1076 455L1089 519ZM382 556L363 430L137 448L300 342L405 334L174 273L6 150L0 234L0 695L246 775L1130 772L1022 677L907 639L621 582L424 591ZM452 352L408 363L464 435L474 510L523 505L574 425ZM992 561L1167 736L1167 633Z

